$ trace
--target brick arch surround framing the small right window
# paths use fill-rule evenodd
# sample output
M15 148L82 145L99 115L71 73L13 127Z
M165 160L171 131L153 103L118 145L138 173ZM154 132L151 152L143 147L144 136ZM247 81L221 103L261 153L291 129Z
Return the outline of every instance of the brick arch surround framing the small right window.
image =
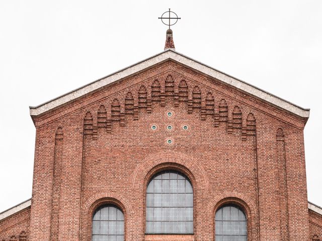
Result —
M258 240L257 232L255 227L257 226L256 220L258 215L258 210L256 208L255 203L245 194L238 192L224 192L220 195L215 196L208 203L207 213L208 213L208 233L209 240L215 240L214 233L214 218L215 213L222 205L225 204L235 204L240 206L246 216L247 216L247 233L248 233L248 241Z

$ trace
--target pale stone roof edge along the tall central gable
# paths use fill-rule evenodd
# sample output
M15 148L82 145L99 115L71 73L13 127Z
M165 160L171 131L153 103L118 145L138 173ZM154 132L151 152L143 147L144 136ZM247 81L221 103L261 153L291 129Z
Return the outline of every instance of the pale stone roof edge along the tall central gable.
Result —
M168 49L164 52L161 52L161 53L158 53L154 56L151 56L145 60L137 62L133 65L130 65L124 69L121 69L117 72L114 72L110 75L107 75L103 78L93 81L87 85L84 85L84 86L79 87L75 90L72 90L68 93L60 95L60 96L58 96L52 100L49 100L45 103L42 103L37 106L30 106L29 107L30 108L30 115L37 116L39 114L47 112L48 110L58 107L59 105L67 103L67 102L74 100L78 97L81 97L89 92L97 90L103 86L109 85L109 84L116 82L124 77L127 77L127 76L134 74L136 72L142 71L145 68L151 67L151 66L153 66L157 63L163 62L167 59L173 59L181 64L184 64L184 65L191 67L197 71L200 71L204 74L214 77L214 78L216 78L222 82L225 82L231 86L234 86L240 90L243 90L243 91L250 93L256 97L259 97L261 99L264 99L267 102L270 102L280 108L288 110L289 112L294 113L300 117L305 117L305 118L309 117L309 109L307 109L307 108L303 108L303 107L300 107L296 104L293 104L283 98L273 95L265 90L262 90L254 85L251 85L243 80L232 77L224 72L214 69L208 65L205 65L199 61L196 61L190 57L187 57L187 56L185 56L181 53L178 53L174 50L171 50L171 49Z

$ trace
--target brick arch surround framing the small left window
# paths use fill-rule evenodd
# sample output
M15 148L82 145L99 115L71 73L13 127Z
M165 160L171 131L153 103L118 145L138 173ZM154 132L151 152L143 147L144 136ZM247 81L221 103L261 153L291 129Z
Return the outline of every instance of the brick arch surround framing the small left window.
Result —
M129 201L115 192L101 192L94 194L85 202L82 208L82 223L80 230L81 240L92 240L92 217L94 211L101 205L113 204L118 206L124 213L124 234L128 233L129 226L126 224L129 216L133 213Z

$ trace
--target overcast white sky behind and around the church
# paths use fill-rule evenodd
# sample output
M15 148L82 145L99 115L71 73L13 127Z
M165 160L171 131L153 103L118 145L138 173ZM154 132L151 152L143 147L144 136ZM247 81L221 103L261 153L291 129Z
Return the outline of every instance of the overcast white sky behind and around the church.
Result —
M308 200L322 206L322 1L0 2L0 212L31 197L38 105L176 50L302 107Z

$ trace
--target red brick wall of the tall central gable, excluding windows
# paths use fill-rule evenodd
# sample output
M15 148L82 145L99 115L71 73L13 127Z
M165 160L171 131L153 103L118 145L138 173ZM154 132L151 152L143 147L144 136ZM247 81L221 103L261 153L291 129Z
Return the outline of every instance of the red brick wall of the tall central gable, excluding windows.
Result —
M306 119L216 79L168 61L34 121L32 241L91 240L107 202L123 209L126 240L191 240L144 235L145 187L164 169L192 181L195 240L214 239L228 202L247 213L249 240L309 238Z

